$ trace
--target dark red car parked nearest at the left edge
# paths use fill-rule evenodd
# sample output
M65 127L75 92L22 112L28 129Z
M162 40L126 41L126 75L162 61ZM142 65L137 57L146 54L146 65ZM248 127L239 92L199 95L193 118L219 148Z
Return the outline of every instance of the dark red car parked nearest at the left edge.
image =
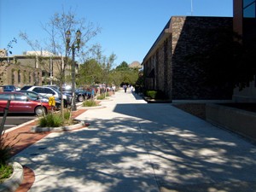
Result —
M35 113L42 115L51 110L48 102L34 101L21 92L0 92L0 113L4 112L8 100L10 100L8 113Z

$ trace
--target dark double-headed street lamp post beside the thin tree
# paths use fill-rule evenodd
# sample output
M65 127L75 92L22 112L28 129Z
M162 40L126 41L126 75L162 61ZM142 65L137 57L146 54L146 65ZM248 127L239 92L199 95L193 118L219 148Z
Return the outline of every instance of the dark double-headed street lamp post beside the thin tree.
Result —
M68 30L66 32L66 46L67 46L67 49L71 49L72 51L72 73L71 73L71 78L72 78L72 98L73 98L73 101L72 101L72 110L73 111L76 111L77 110L77 106L76 106L76 101L75 101L75 61L74 61L74 57L75 57L75 49L78 49L80 48L80 42L81 42L81 32L80 30L78 30L76 32L76 40L73 42L73 44L70 46L70 39L71 39L71 32Z

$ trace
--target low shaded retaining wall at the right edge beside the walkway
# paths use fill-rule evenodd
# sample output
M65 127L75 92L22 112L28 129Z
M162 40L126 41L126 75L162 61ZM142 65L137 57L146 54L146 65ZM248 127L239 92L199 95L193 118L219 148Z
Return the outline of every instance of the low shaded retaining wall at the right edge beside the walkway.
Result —
M218 104L206 105L206 119L256 142L256 113Z

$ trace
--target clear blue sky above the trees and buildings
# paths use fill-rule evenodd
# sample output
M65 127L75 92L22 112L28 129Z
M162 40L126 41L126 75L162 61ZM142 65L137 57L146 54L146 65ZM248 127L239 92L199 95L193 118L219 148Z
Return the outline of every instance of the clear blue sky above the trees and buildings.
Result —
M143 62L148 50L172 16L233 16L233 0L0 0L0 49L14 38L12 55L32 50L19 37L32 40L49 37L42 24L55 13L72 9L77 18L101 27L88 44L101 44L102 55L122 61Z

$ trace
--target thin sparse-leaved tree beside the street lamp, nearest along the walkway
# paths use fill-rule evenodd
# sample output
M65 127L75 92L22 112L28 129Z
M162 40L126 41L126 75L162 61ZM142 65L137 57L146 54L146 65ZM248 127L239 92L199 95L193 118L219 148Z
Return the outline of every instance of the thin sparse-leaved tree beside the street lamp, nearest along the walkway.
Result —
M65 10L62 10L62 13L55 13L50 19L49 22L45 25L42 24L44 32L47 33L47 38L45 40L45 49L54 55L61 55L61 61L57 65L59 75L57 76L60 82L60 87L65 83L67 79L67 66L71 65L70 55L72 50L67 46L67 31L71 32L70 44L74 44L76 41L76 32L80 30L82 33L80 41L81 52L84 51L85 44L90 41L91 38L94 38L98 32L101 31L101 28L94 26L91 22L86 22L84 18L79 19L75 12L72 9L66 13ZM20 33L20 37L26 40L26 43L29 44L32 49L38 48L32 44L32 41L27 38L25 32ZM42 44L39 44L40 47L43 47ZM75 55L79 59L79 54ZM63 98L61 90L61 113L63 109ZM63 113L62 113L63 116Z

